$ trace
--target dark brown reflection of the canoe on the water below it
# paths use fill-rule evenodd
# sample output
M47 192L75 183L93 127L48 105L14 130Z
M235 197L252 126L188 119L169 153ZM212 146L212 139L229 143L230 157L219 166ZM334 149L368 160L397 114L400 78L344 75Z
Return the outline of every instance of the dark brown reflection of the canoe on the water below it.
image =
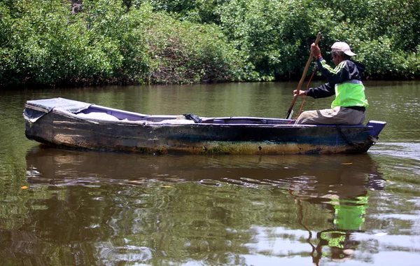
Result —
M74 185L89 182L223 181L239 186L269 185L299 190L300 197L357 195L375 186L369 155L141 155L73 151L36 146L27 153L29 183ZM367 179L368 176L368 179Z

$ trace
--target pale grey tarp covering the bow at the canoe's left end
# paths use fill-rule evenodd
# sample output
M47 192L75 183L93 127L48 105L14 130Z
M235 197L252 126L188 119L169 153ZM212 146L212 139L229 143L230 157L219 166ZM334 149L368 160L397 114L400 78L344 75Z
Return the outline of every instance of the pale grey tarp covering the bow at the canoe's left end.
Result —
M71 113L78 113L84 109L87 109L92 104L85 102L78 102L70 99L63 98L52 98L52 99L40 99L34 101L27 101L23 116L26 120L34 123L36 120L50 112L52 109L59 108L64 111Z

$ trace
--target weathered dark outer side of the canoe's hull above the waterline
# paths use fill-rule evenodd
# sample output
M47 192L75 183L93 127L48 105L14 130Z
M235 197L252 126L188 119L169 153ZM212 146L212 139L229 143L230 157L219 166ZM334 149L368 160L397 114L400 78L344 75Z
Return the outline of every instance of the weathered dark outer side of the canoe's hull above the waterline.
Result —
M367 126L165 125L94 121L52 109L26 120L28 139L53 146L137 153L322 154L365 153L374 144Z

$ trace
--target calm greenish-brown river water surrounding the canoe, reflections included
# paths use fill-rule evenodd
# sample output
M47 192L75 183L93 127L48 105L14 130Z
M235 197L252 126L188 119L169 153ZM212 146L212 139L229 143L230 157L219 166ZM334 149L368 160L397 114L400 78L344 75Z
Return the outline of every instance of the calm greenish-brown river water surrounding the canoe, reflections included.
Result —
M141 155L25 138L29 99L283 118L296 85L0 91L0 265L419 265L419 82L365 83L367 120L387 125L361 155Z

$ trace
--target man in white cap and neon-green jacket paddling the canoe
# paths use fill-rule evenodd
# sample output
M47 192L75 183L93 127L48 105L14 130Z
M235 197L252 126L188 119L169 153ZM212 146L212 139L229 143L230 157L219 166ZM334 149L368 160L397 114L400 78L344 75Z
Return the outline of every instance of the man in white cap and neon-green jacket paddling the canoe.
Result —
M321 50L315 43L311 45L311 53L328 83L316 88L311 87L309 90L300 90L299 96L308 95L316 99L335 94L335 100L331 104L331 109L303 112L297 118L296 124L363 124L365 109L369 104L365 97L365 86L360 80L364 66L350 60L356 54L350 50L347 43L334 43L331 46L331 55L335 69L332 69L323 59ZM296 94L297 90L293 93Z

